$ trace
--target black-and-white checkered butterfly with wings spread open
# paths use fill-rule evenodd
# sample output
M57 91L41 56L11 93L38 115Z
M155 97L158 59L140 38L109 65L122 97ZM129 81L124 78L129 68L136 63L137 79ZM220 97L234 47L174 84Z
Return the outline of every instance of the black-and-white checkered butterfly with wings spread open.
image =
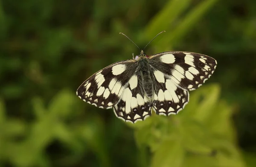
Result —
M189 102L189 91L209 79L216 66L204 54L166 51L147 57L141 50L135 59L115 62L90 76L76 94L135 123L151 116L151 109L157 115L179 113Z

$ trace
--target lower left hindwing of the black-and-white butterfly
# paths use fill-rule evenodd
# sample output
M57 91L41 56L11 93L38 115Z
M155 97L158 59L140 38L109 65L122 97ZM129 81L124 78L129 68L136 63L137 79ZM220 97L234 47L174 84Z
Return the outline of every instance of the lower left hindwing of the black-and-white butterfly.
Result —
M128 81L120 101L113 110L116 116L125 122L135 123L151 116L151 102L145 96L140 73L134 74Z

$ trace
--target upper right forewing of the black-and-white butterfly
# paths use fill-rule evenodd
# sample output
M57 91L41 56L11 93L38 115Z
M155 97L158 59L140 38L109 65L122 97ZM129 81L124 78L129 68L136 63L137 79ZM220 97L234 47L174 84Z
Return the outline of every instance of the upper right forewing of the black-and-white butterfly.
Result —
M217 61L203 54L168 51L149 57L149 64L180 88L192 91L209 79Z

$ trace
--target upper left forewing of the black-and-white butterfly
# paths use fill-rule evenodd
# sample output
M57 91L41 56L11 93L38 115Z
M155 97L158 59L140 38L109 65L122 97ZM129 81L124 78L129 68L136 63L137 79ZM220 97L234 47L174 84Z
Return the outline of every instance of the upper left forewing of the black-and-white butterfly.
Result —
M99 108L112 108L127 88L128 81L137 69L136 60L113 63L85 80L76 94L84 102Z

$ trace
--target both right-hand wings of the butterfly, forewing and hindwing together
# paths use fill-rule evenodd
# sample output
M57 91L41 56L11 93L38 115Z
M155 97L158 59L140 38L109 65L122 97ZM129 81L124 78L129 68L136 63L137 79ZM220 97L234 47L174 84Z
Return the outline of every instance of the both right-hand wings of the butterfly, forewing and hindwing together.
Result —
M189 91L200 87L215 71L217 61L192 52L169 51L152 55L154 68L153 109L169 116L189 102Z

